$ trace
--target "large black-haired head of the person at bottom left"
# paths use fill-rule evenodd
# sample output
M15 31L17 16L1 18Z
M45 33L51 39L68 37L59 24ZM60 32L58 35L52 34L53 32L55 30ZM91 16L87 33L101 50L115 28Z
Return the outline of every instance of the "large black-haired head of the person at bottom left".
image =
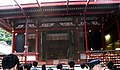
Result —
M19 67L19 59L14 54L9 54L2 59L3 70L17 70Z

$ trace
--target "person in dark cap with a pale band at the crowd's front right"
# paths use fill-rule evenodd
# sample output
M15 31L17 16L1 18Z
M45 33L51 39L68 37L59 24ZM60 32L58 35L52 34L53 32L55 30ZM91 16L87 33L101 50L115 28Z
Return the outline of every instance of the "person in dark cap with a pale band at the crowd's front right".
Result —
M89 61L88 66L90 67L90 70L102 70L99 59Z

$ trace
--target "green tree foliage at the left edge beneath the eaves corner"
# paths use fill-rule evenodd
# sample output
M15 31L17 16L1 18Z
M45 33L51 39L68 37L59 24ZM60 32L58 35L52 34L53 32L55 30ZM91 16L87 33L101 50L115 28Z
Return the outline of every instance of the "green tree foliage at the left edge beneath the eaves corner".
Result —
M0 41L5 41L7 44L11 45L12 34L0 28Z

